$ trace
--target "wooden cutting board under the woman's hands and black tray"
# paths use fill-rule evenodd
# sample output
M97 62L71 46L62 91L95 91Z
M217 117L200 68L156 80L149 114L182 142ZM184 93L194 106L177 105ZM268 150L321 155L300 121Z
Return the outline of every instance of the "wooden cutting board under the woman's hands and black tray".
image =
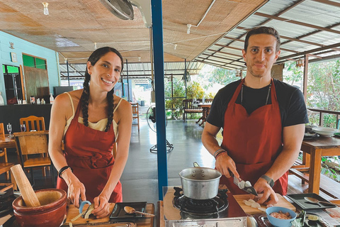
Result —
M84 206L84 210L87 209L87 204ZM115 204L110 204L110 214L113 211L113 207ZM154 204L147 204L147 213L154 214ZM62 226L69 226L69 223L72 222L73 226L86 224L86 223L106 223L110 221L109 216L106 218L95 218L93 215L90 216L89 219L84 219L82 217L78 218L76 221L71 221L75 216L79 214L79 209L74 207L73 204L70 204L67 209L67 218L66 222ZM154 218L138 218L136 219L137 226L145 226L145 227L152 227L154 225Z

